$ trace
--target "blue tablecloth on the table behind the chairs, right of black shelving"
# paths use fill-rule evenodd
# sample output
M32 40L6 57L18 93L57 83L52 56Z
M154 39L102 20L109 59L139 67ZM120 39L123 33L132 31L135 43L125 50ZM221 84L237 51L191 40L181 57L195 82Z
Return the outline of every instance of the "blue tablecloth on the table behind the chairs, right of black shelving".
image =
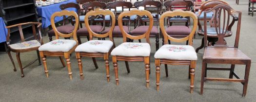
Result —
M52 4L49 6L37 7L38 16L42 17L42 27L47 28L48 26L50 26L52 14L54 14L55 12L61 11L61 9L59 8L59 5L66 4L69 2L76 2L76 0L68 0L60 3ZM75 8L68 8L66 10L77 11ZM59 22L62 19L63 17L55 17L55 22Z

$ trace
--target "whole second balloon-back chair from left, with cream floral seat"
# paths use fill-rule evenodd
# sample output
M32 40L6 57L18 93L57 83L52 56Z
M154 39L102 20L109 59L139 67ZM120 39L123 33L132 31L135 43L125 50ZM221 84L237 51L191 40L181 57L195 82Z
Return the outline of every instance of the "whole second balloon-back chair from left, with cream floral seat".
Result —
M79 65L79 71L80 71L80 77L81 80L83 79L83 72L82 72L82 61L81 57L103 57L105 60L106 65L106 76L107 81L109 82L109 54L110 52L115 48L114 40L112 38L112 32L115 27L115 20L112 20L112 26L110 27L109 32L106 32L104 34L97 34L92 31L90 28L88 19L91 16L97 16L97 15L103 15L107 16L109 15L112 19L115 19L115 14L112 11L105 11L105 10L95 10L90 11L85 15L85 26L89 31L90 40L79 45L76 48L76 56L78 59L78 65ZM109 36L110 40L93 40L93 37L96 36L98 38L104 38ZM98 66L96 67L98 68Z

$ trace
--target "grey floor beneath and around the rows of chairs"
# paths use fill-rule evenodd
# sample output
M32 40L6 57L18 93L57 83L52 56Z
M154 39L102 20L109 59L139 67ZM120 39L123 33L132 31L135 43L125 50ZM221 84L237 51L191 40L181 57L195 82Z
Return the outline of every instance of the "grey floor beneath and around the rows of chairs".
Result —
M84 80L79 79L79 68L75 54L71 56L73 80L69 79L67 68L62 68L58 57L47 57L49 78L45 77L43 66L37 63L24 69L25 77L20 77L20 69L15 53L12 53L17 67L13 66L7 54L0 54L0 102L255 102L256 100L256 54L254 44L256 35L256 17L248 16L248 0L227 0L230 5L242 11L242 24L239 49L252 58L247 96L242 97L240 83L206 82L204 94L199 95L203 50L197 53L198 61L195 77L195 91L189 93L190 80L188 66L168 66L169 77L165 77L164 66L161 66L160 90L156 90L154 64L155 39L151 38L151 74L150 88L145 87L143 62L130 62L131 73L127 73L124 62L119 61L119 85L116 85L112 58L110 58L110 82L106 81L105 64L97 58L98 69L95 69L91 58L82 58ZM234 27L233 32L236 31ZM194 39L194 48L201 44L201 36ZM43 37L44 43L48 36ZM234 45L235 36L226 38L229 45ZM86 38L82 42L87 41ZM122 43L115 38L116 45ZM22 53L23 66L36 59L36 51ZM210 65L230 67L230 65ZM236 73L243 78L245 66L237 65ZM228 78L229 71L208 71L209 77Z

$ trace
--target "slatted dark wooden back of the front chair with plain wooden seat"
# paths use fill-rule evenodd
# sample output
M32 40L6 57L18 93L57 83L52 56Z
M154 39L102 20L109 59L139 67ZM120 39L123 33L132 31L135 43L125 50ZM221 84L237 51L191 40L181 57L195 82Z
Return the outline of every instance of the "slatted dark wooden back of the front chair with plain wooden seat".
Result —
M206 13L214 12L215 13L215 19L219 23L215 23L215 30L217 32L218 40L214 46L227 46L227 43L224 39L225 34L228 32L231 32L230 25L233 26L234 24L234 14L238 14L238 21L237 21L237 29L236 29L236 40L234 47L238 48L238 42L239 42L239 35L240 35L240 26L241 26L241 15L242 12L236 11L233 8L231 8L227 4L219 4L212 8L211 10L204 11L204 44L207 43L207 20L206 20ZM233 17L233 21L230 23L230 16ZM218 24L218 25L217 25ZM204 45L204 47L207 47L207 44Z

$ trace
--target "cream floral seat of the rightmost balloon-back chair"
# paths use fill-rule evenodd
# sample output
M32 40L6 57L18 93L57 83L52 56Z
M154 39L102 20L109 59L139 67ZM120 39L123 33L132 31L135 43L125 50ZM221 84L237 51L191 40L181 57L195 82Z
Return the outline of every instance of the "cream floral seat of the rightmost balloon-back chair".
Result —
M157 59L197 60L197 53L190 45L163 45L156 53Z

